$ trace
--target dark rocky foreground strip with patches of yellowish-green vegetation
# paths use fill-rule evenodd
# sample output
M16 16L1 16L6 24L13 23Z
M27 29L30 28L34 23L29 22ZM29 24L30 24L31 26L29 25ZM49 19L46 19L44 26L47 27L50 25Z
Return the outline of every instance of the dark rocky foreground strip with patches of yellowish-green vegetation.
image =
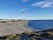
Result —
M0 36L2 40L53 40L53 29Z

